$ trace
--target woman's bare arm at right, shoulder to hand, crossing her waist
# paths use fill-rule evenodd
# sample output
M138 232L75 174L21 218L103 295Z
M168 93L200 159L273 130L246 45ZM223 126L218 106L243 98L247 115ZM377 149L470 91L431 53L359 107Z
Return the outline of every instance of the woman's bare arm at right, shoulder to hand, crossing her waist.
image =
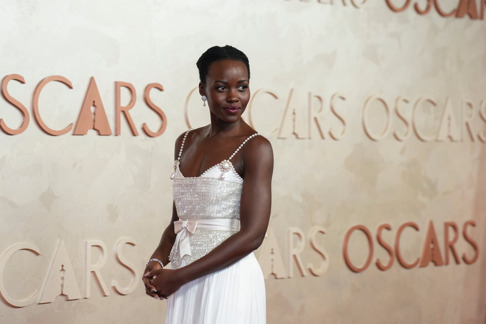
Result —
M226 268L256 250L265 237L272 204L273 151L270 142L256 136L241 150L244 181L240 203L240 231L224 240L206 256L176 270L155 270L153 285L162 297L180 286Z

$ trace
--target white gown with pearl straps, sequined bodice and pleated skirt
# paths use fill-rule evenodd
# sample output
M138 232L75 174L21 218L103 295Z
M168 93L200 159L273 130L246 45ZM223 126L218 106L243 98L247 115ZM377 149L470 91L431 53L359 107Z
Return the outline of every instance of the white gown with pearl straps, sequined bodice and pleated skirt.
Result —
M169 256L173 269L205 256L240 229L240 199L243 179L231 165L231 158L252 137L249 136L227 160L199 177L184 177L174 163L174 202L179 221ZM166 324L265 324L265 283L253 253L233 265L195 279L170 296Z

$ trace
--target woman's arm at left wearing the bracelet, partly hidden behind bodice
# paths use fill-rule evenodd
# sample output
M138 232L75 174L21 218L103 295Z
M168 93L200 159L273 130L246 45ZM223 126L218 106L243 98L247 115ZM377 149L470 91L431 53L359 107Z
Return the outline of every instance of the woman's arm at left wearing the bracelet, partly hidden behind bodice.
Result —
M182 145L182 140L184 138L185 133L181 134L175 140L175 149L174 149L174 160L177 159L179 156L179 150ZM164 233L162 233L162 237L160 238L160 242L156 247L151 259L156 258L162 261L164 267L169 263L169 254L171 253L172 246L175 242L175 232L174 232L174 222L178 221L179 218L177 217L177 210L175 208L175 203L172 203L172 219L169 225L166 227ZM145 268L143 274L148 273L152 270L161 269L162 267L157 261L151 261ZM152 296L156 299L159 299L158 294L156 293L155 287L150 283L149 278L142 276L143 284L145 285L145 292L147 295Z

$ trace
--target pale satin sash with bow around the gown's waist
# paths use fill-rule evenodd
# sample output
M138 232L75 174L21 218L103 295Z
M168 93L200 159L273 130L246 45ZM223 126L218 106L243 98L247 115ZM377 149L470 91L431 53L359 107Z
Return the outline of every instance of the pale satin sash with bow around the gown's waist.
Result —
M198 229L219 230L219 231L239 231L240 220L233 218L211 218L207 220L187 220L187 221L175 221L174 232L177 234L175 237L175 244L179 244L179 250L181 258L184 256L192 256L191 242L189 240L190 233Z

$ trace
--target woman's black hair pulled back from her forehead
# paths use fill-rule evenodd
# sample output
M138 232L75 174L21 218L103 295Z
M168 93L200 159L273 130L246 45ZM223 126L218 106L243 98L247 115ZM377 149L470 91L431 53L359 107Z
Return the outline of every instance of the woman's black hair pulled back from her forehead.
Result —
M206 78L208 77L211 64L221 60L242 61L248 70L248 81L250 80L250 64L248 63L248 57L242 51L229 45L225 47L213 46L205 51L196 63L199 69L199 79L203 85L206 85Z

